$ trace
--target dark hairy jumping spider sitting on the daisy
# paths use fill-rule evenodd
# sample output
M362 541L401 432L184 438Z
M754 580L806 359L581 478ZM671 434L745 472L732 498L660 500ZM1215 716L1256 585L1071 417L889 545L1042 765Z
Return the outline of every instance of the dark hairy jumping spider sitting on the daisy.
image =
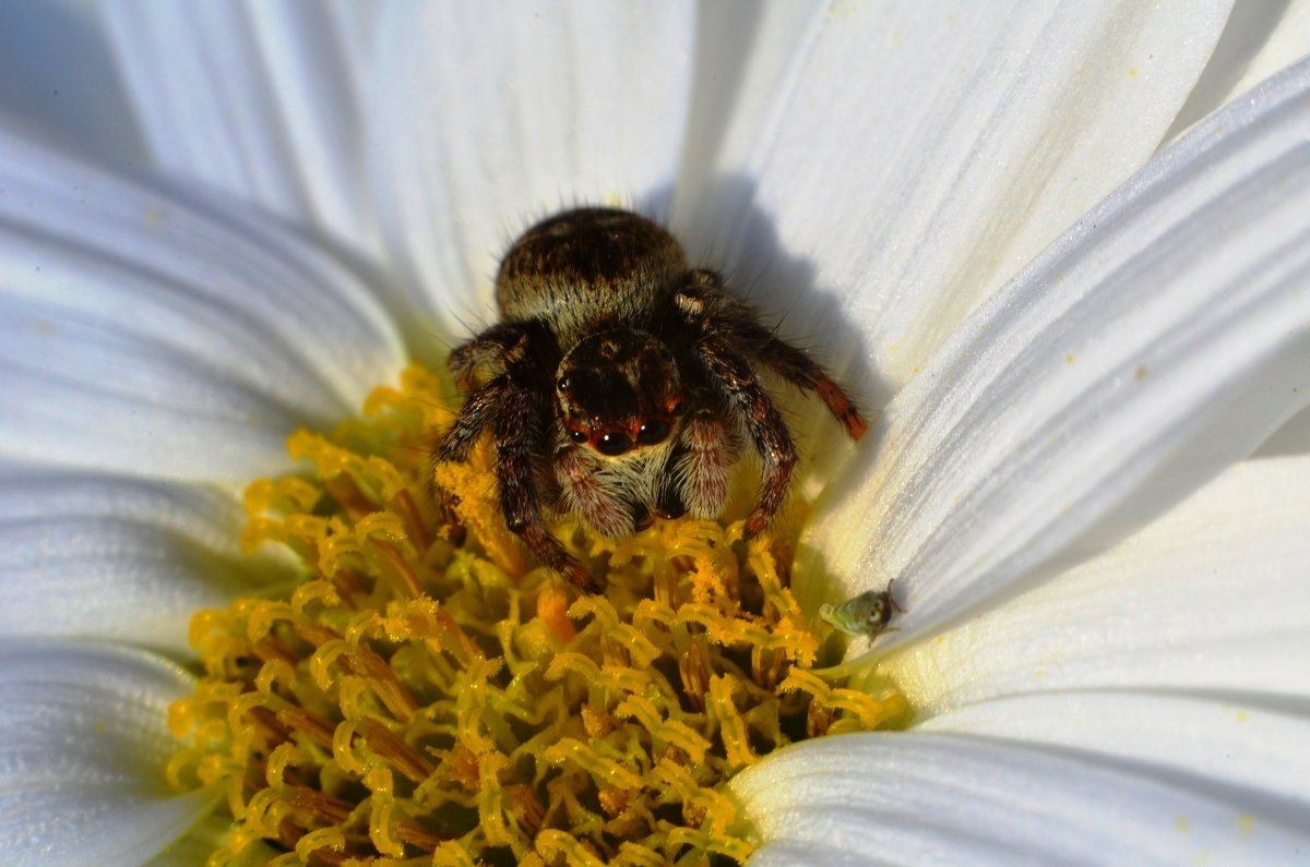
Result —
M613 538L652 512L717 517L749 437L762 479L745 536L769 524L796 449L758 365L816 392L852 439L867 427L806 352L635 213L580 208L538 223L510 248L495 288L500 322L451 352L468 399L435 458L464 460L491 428L507 526L582 589L596 583L546 530L544 507Z

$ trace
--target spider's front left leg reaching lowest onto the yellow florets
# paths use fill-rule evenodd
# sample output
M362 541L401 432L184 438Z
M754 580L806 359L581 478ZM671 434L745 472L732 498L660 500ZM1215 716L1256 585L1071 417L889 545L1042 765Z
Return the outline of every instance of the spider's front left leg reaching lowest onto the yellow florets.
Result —
M532 481L532 456L537 419L532 394L525 389L507 389L495 418L495 475L500 487L500 511L506 526L519 536L542 563L563 575L569 583L588 593L600 587L591 572L574 559L559 540L546 530L541 520L537 487Z

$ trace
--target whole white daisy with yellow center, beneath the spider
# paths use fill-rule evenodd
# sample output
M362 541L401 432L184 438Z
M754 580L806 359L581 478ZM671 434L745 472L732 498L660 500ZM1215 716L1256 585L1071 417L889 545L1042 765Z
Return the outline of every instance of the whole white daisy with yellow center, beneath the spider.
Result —
M1307 8L7 9L60 58L0 52L7 860L1305 858ZM776 538L671 523L570 600L477 458L464 547L413 473L506 242L583 202L878 418L789 403Z

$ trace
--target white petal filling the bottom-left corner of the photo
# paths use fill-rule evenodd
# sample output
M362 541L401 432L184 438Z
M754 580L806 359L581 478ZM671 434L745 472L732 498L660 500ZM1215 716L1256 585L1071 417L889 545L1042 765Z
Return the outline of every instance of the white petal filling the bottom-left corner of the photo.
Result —
M0 642L0 851L9 864L136 867L214 795L174 795L168 705L191 677L102 644Z

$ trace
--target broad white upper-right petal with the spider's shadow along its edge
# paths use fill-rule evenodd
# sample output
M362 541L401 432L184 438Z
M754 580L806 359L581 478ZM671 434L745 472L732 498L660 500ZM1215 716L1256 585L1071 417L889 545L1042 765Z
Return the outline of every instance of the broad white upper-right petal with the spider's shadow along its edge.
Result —
M720 248L880 399L1146 161L1229 5L833 4Z

